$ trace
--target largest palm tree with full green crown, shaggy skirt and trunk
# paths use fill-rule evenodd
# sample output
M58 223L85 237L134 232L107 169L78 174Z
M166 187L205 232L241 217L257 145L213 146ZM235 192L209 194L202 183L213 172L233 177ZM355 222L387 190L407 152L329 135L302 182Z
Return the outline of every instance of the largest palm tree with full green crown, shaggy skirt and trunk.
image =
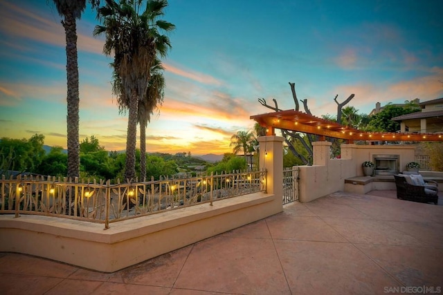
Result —
M105 33L103 52L108 56L114 53L114 95L120 109L128 109L125 178L131 180L135 178L138 101L146 95L156 54L165 57L171 47L169 38L159 30L171 31L175 26L158 19L168 6L166 0L147 0L143 12L143 0L105 2L98 9L103 26L96 26L94 35Z

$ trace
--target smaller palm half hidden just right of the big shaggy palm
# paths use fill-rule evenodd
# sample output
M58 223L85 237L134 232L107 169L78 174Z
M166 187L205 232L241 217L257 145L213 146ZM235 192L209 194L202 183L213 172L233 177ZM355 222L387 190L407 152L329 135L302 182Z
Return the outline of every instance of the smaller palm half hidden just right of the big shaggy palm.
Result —
M163 66L160 59L155 59L151 68L150 82L146 88L146 95L143 100L138 101L138 123L140 124L140 178L146 178L146 127L147 122L151 122L151 115L154 108L163 103L165 96L165 77L163 76Z

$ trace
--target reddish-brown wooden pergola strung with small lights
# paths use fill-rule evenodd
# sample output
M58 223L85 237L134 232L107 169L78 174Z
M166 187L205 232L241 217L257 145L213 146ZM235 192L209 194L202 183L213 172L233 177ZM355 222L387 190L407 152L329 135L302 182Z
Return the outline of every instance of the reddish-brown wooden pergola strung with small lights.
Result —
M348 143L354 140L443 142L443 133L365 132L294 110L264 113L250 118L266 128L266 135L275 135L275 129L286 129L319 135L320 140L334 137L347 140Z

